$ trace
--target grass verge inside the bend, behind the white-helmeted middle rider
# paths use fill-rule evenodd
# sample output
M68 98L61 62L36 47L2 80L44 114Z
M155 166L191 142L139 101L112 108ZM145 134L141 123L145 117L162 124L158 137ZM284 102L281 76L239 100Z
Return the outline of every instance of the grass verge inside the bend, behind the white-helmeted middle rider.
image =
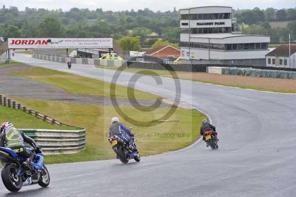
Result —
M124 121L113 107L11 98L64 123L86 127L86 149L84 151L78 154L45 156L47 164L115 158L108 137L106 137L111 118L118 116L126 126L132 126ZM204 118L204 115L198 111L177 108L170 117L174 121L156 124L155 120L166 114L168 108L158 108L153 112L145 113L132 107L122 107L121 109L130 118L150 123L149 127L134 126L133 128L142 156L178 150L191 144L199 137L196 128L200 127L200 122Z

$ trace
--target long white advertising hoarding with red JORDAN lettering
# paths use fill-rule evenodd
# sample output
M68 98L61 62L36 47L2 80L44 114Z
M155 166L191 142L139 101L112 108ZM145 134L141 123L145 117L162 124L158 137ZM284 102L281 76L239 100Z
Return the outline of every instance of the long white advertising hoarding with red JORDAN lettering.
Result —
M113 39L9 38L8 48L113 48Z

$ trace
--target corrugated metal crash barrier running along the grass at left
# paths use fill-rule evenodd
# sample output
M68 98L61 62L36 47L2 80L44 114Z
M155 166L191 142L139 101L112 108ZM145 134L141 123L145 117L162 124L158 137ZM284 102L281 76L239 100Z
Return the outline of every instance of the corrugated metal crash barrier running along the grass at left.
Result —
M19 109L27 114L40 118L43 121L48 121L52 124L66 125L54 118L50 118L37 111L34 111L22 104L9 99L0 94L0 105L8 108ZM75 128L75 127L73 127ZM76 127L77 128L77 127ZM73 154L85 149L86 129L77 128L77 130L53 130L53 129L20 129L28 136L37 141L37 144L42 148L44 154Z

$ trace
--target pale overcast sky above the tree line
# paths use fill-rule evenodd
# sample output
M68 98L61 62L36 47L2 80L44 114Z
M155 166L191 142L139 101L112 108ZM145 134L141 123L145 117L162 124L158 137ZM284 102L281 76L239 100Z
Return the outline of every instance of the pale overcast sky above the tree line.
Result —
M167 11L173 10L174 7L178 10L185 7L207 5L231 6L234 9L254 8L256 6L261 9L267 7L277 9L295 8L296 0L0 0L0 6L2 4L7 8L9 6L16 6L19 10L24 10L25 7L62 8L64 11L68 11L72 7L88 8L90 10L102 7L104 11L138 10L144 8L149 8L153 11Z

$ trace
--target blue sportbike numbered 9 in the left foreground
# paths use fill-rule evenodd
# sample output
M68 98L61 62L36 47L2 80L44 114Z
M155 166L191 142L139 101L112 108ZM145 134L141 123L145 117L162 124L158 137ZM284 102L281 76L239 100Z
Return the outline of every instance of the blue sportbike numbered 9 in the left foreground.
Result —
M3 164L1 178L4 186L10 192L19 191L22 186L39 184L41 187L47 187L50 177L47 168L43 164L43 154L36 150L27 149L35 154L32 160L32 170L25 168L22 163L26 158L19 157L13 150L0 147L0 160Z

